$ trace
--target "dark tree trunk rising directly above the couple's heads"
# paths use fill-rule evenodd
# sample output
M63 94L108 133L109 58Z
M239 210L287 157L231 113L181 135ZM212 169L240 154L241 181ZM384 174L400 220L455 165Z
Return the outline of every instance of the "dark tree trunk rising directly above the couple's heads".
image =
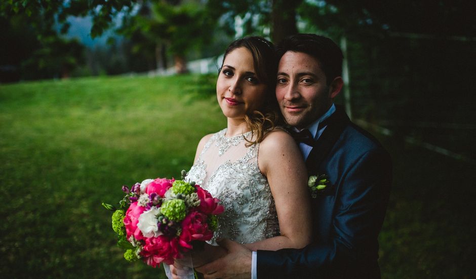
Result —
M301 3L302 0L272 0L271 40L273 43L279 43L284 38L298 32L296 24L296 8Z

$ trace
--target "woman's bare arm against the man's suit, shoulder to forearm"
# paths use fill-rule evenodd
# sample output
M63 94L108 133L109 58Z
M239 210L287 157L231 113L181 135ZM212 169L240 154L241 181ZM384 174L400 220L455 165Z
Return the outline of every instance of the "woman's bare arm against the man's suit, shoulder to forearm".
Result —
M301 152L282 130L268 133L258 152L258 165L271 188L281 235L246 246L253 251L303 248L311 241L312 220Z

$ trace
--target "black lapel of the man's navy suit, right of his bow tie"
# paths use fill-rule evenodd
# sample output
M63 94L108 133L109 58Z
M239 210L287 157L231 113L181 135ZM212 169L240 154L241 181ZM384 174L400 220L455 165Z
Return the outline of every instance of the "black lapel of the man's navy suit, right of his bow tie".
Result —
M318 172L319 166L327 157L350 120L343 108L336 105L336 111L329 117L327 122L326 129L307 157L306 167L309 173Z

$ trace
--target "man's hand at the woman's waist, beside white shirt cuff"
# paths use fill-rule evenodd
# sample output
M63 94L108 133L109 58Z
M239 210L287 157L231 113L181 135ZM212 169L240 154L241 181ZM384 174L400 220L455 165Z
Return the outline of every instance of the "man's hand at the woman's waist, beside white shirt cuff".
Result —
M228 239L218 241L227 250L226 255L195 269L206 279L251 278L251 250Z

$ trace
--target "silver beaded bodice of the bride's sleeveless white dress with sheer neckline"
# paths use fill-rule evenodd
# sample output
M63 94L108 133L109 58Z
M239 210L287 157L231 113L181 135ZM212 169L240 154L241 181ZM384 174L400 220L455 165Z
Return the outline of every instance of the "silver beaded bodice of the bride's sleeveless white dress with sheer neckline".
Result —
M218 216L217 238L252 243L279 235L276 208L268 181L258 167L259 144L246 147L251 132L225 136L226 129L212 135L188 172L225 207Z

